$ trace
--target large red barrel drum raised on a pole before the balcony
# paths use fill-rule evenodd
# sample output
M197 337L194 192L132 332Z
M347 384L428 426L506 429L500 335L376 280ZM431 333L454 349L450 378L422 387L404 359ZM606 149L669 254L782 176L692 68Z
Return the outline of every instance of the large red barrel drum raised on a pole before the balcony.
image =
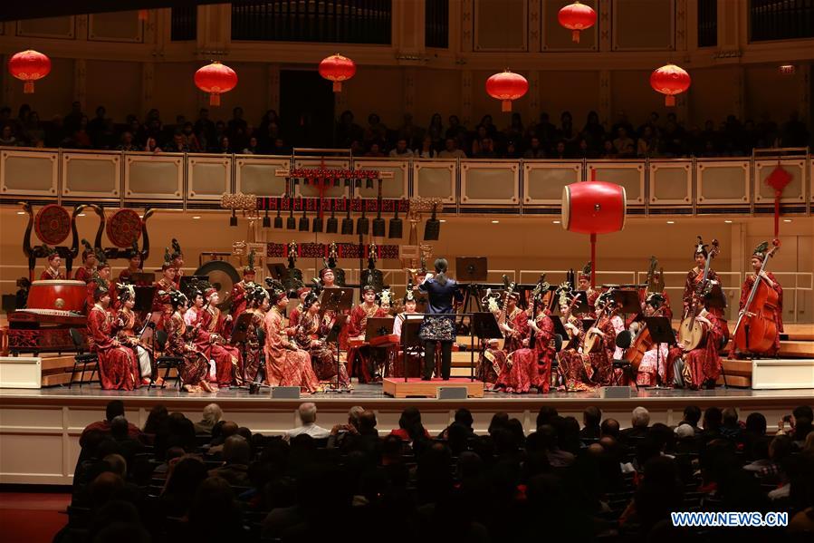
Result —
M562 228L580 234L608 234L625 228L625 188L604 181L562 188Z

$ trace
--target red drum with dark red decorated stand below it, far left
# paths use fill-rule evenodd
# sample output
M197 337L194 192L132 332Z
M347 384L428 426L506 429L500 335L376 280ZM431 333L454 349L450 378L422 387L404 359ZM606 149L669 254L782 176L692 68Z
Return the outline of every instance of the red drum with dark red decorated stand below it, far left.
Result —
M8 315L8 347L12 353L71 352L70 329L82 335L88 319L82 314L87 298L84 281L34 281L28 306Z

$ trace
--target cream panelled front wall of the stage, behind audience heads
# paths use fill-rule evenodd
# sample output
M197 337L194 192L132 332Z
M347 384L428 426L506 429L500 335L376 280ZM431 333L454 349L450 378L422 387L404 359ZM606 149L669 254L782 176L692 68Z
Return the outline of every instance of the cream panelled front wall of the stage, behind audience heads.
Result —
M266 435L282 434L299 425L296 415L301 401L254 399L216 399L210 396L177 396L148 398L122 393L127 406L129 422L141 427L151 407L162 402L170 412L183 412L192 421L201 419L201 410L208 402L216 401L225 412L225 420L235 421ZM41 397L0 398L0 483L71 484L72 473L79 454L79 436L91 422L104 418L105 404L110 396L95 397ZM485 398L465 401L437 401L422 399L323 399L309 398L317 403L317 423L330 428L345 423L352 405L362 405L377 413L378 429L386 435L398 427L398 418L407 405L421 410L422 421L434 435L454 420L455 409L465 406L473 413L474 429L485 433L494 412L508 412L522 422L525 431L535 429L537 412L541 405L556 407L563 416L582 420L582 410L588 405L599 405L603 418L615 418L623 427L630 425L630 412L637 405L650 410L651 422L674 425L682 419L685 405L695 404L702 409L710 405L733 406L744 420L750 412L761 412L769 422L770 431L777 421L801 403L810 402L810 395L799 397L751 398L735 396L694 398L631 398L625 400L599 400L596 398L546 398L545 396L517 396L514 398Z

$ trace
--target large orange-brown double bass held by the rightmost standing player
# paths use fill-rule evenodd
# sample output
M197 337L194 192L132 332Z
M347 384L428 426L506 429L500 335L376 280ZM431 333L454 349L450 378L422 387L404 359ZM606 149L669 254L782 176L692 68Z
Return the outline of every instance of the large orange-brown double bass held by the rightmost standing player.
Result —
M775 315L780 305L779 296L777 291L771 288L761 276L769 258L774 257L774 253L780 248L780 239L774 239L771 244L773 247L763 258L761 271L755 277L749 298L746 300L746 305L743 305L741 315L738 316L738 323L735 325L734 344L742 353L768 353L777 337ZM769 244L764 242L761 247L758 247L758 250L762 252L768 247Z

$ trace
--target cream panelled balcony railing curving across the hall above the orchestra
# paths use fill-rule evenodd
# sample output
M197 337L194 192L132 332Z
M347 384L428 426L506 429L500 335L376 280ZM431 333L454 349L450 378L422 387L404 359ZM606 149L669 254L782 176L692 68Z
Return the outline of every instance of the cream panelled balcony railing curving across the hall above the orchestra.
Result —
M359 168L393 173L384 197L441 198L447 214L556 216L562 189L597 179L627 192L630 216L761 215L774 209L766 184L780 164L791 175L780 206L810 214L814 159L797 156L678 160L397 160L0 148L0 201L99 201L116 206L219 208L222 194L313 197L317 189L278 176L291 167ZM332 187L329 198L372 199L376 191Z

